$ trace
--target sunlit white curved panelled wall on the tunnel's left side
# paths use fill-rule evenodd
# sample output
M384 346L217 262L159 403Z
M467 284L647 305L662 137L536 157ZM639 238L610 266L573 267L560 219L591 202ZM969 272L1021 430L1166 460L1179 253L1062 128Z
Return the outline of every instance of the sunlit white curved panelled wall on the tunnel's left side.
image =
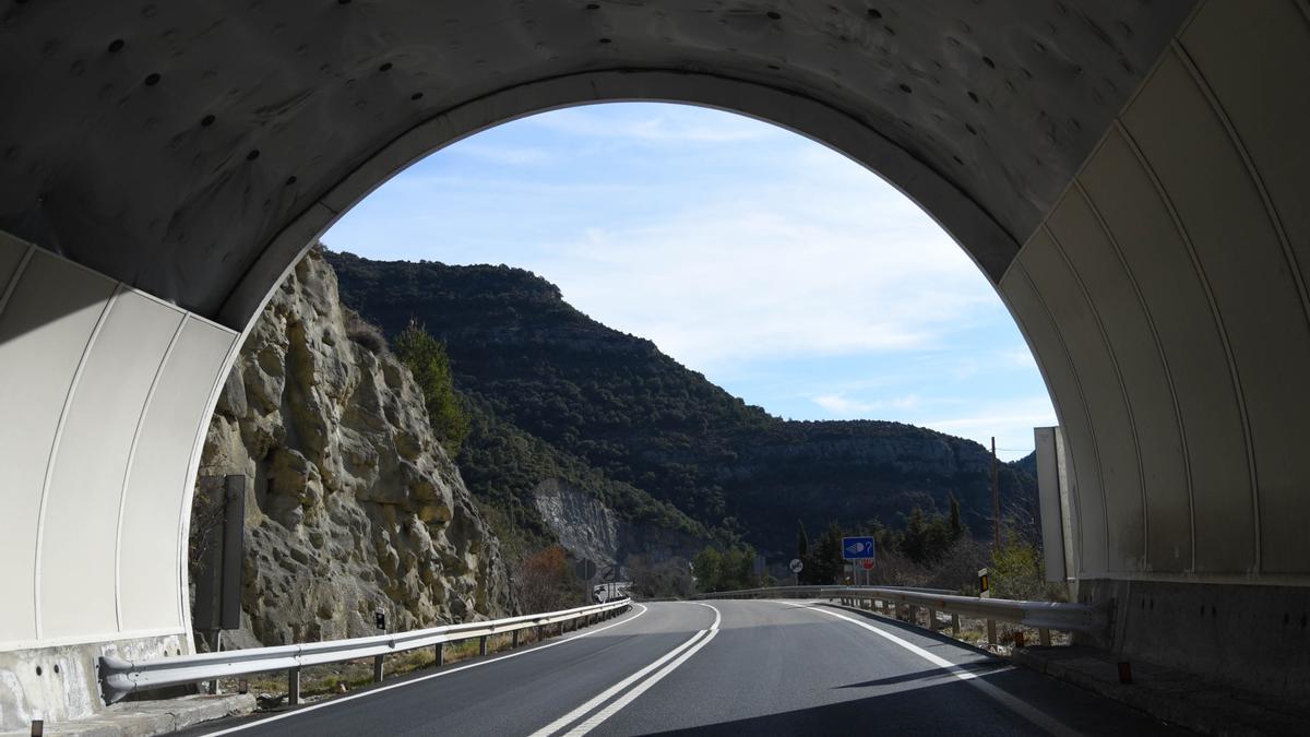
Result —
M0 239L0 652L187 635L193 455L236 333Z

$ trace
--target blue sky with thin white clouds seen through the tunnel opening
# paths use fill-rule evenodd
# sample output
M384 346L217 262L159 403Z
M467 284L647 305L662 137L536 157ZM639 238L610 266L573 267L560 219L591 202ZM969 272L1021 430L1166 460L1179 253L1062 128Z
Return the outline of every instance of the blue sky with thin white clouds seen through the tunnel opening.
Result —
M914 203L846 157L701 108L571 108L418 161L324 237L508 264L781 417L875 418L1002 458L1053 425L1014 320Z

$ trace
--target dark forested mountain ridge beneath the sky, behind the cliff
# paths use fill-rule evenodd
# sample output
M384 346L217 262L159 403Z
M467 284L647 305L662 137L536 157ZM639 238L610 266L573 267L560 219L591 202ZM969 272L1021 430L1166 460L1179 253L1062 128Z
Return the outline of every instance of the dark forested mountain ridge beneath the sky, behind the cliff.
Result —
M592 320L524 269L325 257L342 300L386 334L414 319L445 342L470 404L720 540L776 557L798 519L896 523L913 506L943 510L952 494L975 532L988 525L990 455L972 441L879 420L772 416L652 341ZM482 463L465 476L486 496L496 471ZM1009 502L1035 505L1031 475L1010 464L1000 475Z

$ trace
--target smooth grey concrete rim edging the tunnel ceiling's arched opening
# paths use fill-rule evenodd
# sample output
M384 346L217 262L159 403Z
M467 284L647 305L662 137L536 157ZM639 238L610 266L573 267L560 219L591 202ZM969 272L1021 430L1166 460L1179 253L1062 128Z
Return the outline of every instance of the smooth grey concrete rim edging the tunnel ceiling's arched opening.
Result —
M410 129L351 170L292 220L223 303L219 319L240 325L341 215L411 164L478 132L549 110L605 102L672 102L756 118L803 135L884 178L950 233L996 283L1019 244L965 193L859 121L808 97L715 75L614 70L498 90ZM305 240L305 233L317 233ZM290 254L290 256L288 256Z

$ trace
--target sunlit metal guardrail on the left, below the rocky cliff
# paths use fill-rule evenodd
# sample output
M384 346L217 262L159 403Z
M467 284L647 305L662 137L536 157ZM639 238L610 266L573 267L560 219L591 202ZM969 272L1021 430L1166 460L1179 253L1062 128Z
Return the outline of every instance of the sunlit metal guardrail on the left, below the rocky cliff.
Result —
M295 704L300 699L300 669L309 665L372 657L373 681L381 681L383 658L388 654L436 647L436 664L440 665L443 656L441 647L445 643L479 639L479 652L486 654L486 639L493 635L512 632L514 644L517 645L519 632L523 629L559 624L561 631L563 631L566 623L579 620L590 623L608 619L630 606L631 599L625 598L546 614L445 624L394 635L375 635L371 637L307 643L303 645L224 650L172 658L123 660L115 656L102 656L98 664L101 695L105 703L111 704L132 691L199 683L217 678L234 678L270 670L286 670L288 702Z

